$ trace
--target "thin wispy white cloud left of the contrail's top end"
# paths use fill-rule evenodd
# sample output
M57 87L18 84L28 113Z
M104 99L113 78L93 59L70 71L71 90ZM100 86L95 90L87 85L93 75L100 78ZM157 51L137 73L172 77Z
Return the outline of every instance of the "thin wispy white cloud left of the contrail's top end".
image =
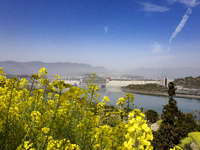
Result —
M163 6L158 6L150 3L140 3L144 6L143 11L148 11L148 12L165 12L168 11L169 8L163 7Z

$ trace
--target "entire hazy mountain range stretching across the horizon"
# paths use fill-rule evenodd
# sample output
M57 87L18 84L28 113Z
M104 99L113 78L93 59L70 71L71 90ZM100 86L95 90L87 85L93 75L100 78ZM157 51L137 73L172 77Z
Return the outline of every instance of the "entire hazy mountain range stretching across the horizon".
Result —
M142 76L144 78L161 79L163 76L169 79L184 78L187 76L198 77L200 76L200 69L194 69L191 67L179 67L179 68L137 68L125 70L123 72L113 72L107 70L105 67L93 67L90 64L83 63L70 63L70 62L55 62L46 63L41 61L31 62L15 62L15 61L0 61L0 67L3 68L5 75L31 75L37 74L38 71L45 67L48 72L48 77L58 75L78 75L78 74L121 74L129 76Z

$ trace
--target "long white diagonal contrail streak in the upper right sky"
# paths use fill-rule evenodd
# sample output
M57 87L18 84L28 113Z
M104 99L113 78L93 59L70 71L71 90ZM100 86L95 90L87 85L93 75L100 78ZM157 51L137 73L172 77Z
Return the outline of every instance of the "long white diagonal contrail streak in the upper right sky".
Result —
M178 27L176 28L176 30L174 31L174 33L172 34L172 36L170 37L169 43L172 42L172 39L176 37L176 35L181 31L181 29L184 27L187 19L189 18L189 15L192 13L192 9L188 8L187 12L185 13L185 15L183 16L183 19L181 20L180 24L178 25Z

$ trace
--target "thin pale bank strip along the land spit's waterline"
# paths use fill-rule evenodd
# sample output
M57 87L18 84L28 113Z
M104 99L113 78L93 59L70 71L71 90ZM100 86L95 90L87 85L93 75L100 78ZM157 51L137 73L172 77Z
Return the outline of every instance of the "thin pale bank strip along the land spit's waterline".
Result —
M120 88L124 92L145 94L145 95L159 95L159 96L168 96L167 93L164 92L153 92L153 91L139 91L128 88ZM174 97L183 97L183 98L191 98L191 99L200 99L200 95L189 95L189 94L176 94Z

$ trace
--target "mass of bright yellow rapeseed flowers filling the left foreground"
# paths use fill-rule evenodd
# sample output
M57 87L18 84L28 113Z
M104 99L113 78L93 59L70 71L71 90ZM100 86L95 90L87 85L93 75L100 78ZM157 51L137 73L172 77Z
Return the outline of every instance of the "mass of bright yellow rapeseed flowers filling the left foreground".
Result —
M153 135L140 110L131 111L129 121L118 120L114 127L101 125L99 116L109 98L92 107L99 96L97 86L90 82L84 90L60 81L59 76L49 83L46 76L45 68L32 74L29 89L28 81L6 79L0 68L0 149L153 149ZM68 90L62 94L64 89ZM132 94L119 98L114 113L127 116L121 106L129 106L129 101ZM109 113L104 116L106 120Z

